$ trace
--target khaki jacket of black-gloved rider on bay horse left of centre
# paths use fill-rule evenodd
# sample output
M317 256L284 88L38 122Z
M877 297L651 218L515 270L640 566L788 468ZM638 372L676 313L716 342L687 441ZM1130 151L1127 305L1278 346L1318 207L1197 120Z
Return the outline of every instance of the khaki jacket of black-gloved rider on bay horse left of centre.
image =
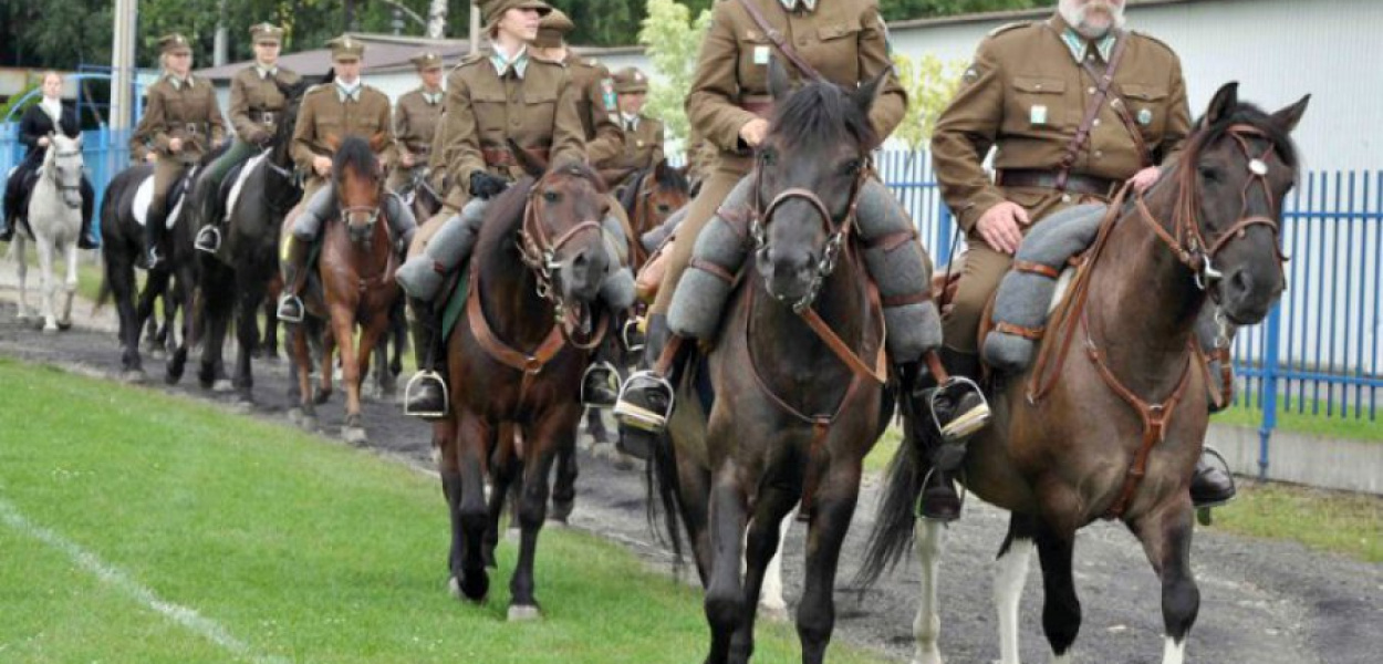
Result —
M465 206L470 174L477 170L510 180L526 174L509 155L510 140L552 165L585 162L577 91L567 71L530 57L521 79L501 80L488 55L465 58L447 77L447 109L437 134L447 159L448 205Z

